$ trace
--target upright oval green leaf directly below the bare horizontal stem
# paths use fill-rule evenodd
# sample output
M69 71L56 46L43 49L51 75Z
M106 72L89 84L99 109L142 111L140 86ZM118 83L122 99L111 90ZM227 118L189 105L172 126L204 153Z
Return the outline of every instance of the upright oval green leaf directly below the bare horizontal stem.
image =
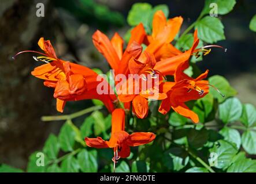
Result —
M71 125L67 122L61 127L60 134L58 136L61 149L65 152L73 151L75 144L76 133L73 131Z

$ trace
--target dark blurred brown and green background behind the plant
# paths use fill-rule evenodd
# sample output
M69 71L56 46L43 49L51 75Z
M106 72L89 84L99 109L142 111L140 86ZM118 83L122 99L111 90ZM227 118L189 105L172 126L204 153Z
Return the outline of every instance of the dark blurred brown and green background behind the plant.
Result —
M44 17L36 17L36 4L44 4ZM204 1L132 1L132 0L0 0L0 163L25 168L28 156L43 147L50 132L58 133L63 124L43 122L43 115L60 114L55 110L53 91L43 86L30 72L39 63L24 50L39 51L40 37L50 39L57 55L91 68L109 66L92 44L92 33L99 29L108 36L121 36L129 29L127 14L135 2L151 5L165 3L170 16L182 16L183 32L199 16ZM210 76L223 75L238 91L239 99L256 106L256 36L249 22L256 13L255 0L238 0L231 13L221 16L226 40L217 44L227 52L214 49L198 62ZM69 102L64 114L91 106L91 101ZM77 120L79 123L79 119Z

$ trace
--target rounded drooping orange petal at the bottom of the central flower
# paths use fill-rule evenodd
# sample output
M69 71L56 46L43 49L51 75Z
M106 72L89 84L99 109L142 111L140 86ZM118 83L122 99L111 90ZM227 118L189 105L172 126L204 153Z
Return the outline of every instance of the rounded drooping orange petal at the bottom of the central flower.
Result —
M141 95L136 95L132 100L132 111L138 118L145 118L149 113L149 102Z

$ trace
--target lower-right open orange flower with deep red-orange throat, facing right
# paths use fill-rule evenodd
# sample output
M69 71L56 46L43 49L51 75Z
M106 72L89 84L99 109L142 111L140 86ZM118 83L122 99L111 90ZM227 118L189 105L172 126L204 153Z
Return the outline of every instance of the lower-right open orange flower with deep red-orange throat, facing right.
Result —
M209 93L209 83L202 79L207 77L208 70L193 79L184 70L188 68L188 62L181 63L175 72L175 82L165 82L162 90L168 95L159 106L159 112L166 114L170 108L184 117L190 118L195 123L199 121L198 115L190 110L184 102L199 99Z

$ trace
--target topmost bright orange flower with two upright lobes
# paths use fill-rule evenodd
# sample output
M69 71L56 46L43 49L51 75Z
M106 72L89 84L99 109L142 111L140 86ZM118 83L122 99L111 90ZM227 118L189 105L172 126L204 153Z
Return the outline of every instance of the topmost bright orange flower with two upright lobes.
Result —
M146 51L153 53L157 61L182 53L170 44L179 32L182 22L182 17L174 17L166 20L162 10L158 10L154 14L152 34L151 36L147 36L145 43L148 45Z

